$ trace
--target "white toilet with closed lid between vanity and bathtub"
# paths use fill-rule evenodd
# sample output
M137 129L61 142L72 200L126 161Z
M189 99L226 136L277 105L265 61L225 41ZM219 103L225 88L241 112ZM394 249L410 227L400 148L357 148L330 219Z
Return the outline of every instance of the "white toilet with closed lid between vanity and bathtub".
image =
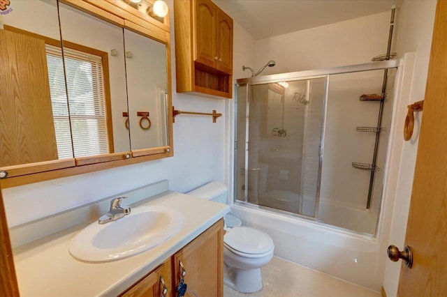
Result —
M225 184L212 181L186 194L226 204L227 192ZM227 232L223 236L223 282L242 293L261 290L261 267L273 257L272 238L263 231L240 226L234 215L226 215L224 220Z

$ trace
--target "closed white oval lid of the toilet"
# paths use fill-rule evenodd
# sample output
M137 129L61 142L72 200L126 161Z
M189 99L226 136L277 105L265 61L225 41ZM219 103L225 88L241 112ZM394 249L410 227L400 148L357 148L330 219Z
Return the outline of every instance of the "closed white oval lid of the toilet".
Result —
M244 254L265 254L274 248L272 238L263 231L250 227L234 227L223 236L223 243Z

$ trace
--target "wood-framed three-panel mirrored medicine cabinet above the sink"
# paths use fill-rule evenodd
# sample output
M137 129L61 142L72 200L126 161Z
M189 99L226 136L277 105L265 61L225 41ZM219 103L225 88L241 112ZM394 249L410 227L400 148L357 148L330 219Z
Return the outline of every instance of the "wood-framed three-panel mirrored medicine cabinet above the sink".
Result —
M151 17L151 5L11 1L0 26L2 188L173 156L169 17Z

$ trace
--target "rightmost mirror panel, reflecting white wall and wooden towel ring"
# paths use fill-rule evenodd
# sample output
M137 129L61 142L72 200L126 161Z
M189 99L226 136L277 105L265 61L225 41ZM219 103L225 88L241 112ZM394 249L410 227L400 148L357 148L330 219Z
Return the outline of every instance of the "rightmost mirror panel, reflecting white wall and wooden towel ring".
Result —
M124 29L131 149L168 146L166 45Z

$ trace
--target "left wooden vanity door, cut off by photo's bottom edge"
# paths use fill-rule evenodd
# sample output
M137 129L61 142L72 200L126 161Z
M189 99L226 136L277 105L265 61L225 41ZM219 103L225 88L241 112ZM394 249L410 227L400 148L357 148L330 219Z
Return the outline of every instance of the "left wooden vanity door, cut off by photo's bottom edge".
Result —
M166 260L161 266L156 268L152 273L149 273L143 277L140 281L135 283L128 291L124 292L121 296L124 297L160 297L163 291L163 284L161 283L161 277L168 289L166 296L174 296L171 278L171 261Z

